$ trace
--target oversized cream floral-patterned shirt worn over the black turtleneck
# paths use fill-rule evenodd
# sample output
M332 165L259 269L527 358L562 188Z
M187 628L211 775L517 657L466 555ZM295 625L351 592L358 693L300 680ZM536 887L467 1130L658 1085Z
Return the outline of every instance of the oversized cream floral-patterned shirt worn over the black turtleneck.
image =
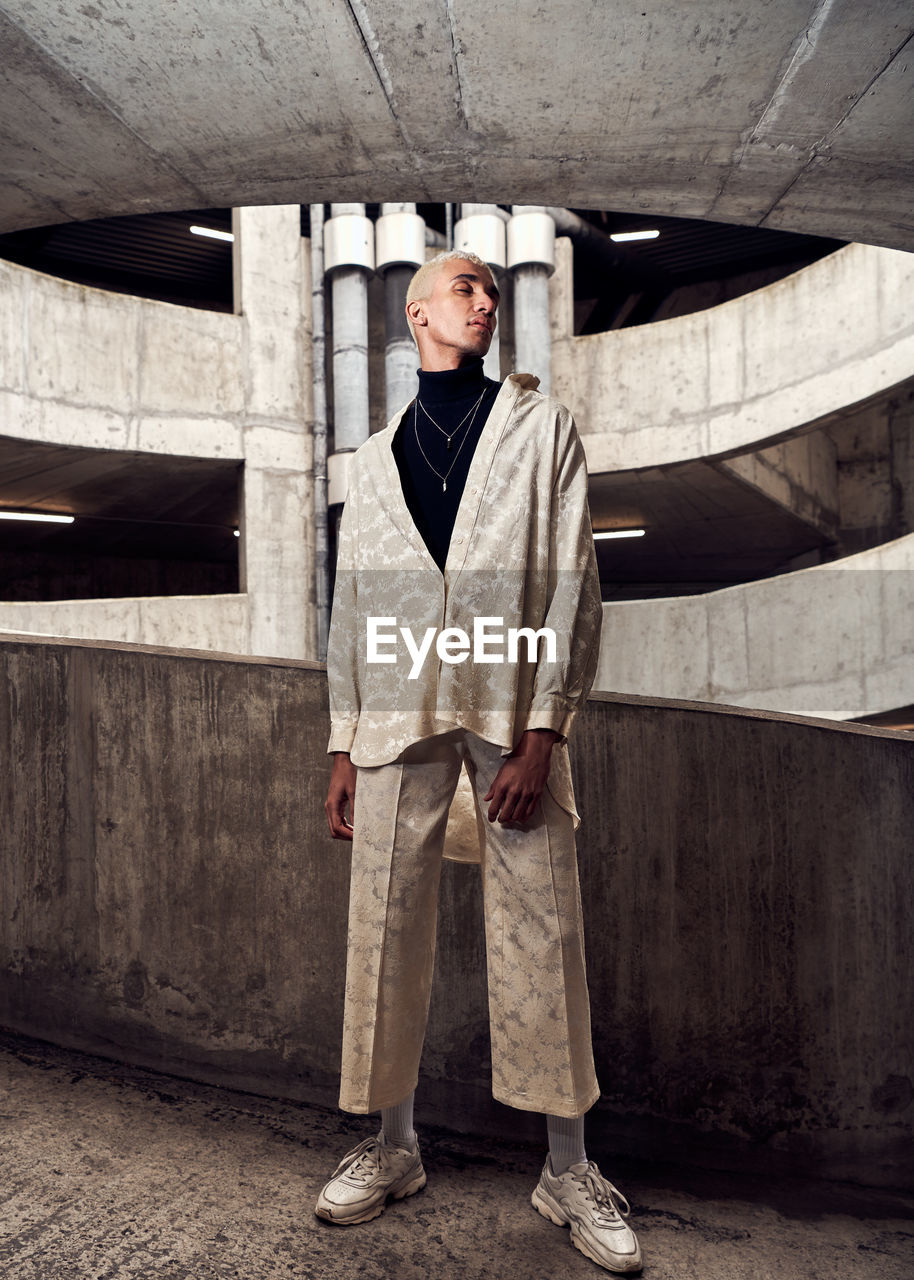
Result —
M387 764L420 739L463 727L507 755L524 730L552 728L562 741L549 790L577 824L566 739L597 673L603 611L584 447L570 411L538 385L530 374L502 384L444 573L413 524L392 452L406 407L353 454L328 643L328 751L348 751L360 767ZM467 653L460 632L472 643L481 618L483 643ZM554 653L545 637L530 645L522 634L512 650L509 628L544 627ZM411 632L412 653L399 628ZM444 628L460 631L438 643Z

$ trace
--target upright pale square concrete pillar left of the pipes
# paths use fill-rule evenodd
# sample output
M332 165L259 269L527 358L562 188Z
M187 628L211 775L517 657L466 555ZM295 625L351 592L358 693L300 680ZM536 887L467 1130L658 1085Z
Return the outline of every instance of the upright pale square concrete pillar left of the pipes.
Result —
M239 553L248 652L315 658L310 269L301 209L236 209L232 228L236 311L245 325Z

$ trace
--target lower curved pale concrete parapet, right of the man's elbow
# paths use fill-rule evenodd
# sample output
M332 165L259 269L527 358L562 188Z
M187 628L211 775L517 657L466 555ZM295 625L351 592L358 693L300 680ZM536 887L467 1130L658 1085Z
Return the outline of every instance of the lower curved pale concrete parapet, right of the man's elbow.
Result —
M914 534L704 595L603 605L597 689L849 719L914 703Z

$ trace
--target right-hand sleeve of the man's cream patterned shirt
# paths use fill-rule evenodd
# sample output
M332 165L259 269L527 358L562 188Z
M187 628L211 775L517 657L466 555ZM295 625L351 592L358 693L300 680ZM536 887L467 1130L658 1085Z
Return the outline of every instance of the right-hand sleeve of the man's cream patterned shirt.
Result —
M586 701L599 660L603 602L588 503L588 466L573 419L562 436L549 512L548 607L543 626L556 635L556 662L540 658L525 728L567 739Z

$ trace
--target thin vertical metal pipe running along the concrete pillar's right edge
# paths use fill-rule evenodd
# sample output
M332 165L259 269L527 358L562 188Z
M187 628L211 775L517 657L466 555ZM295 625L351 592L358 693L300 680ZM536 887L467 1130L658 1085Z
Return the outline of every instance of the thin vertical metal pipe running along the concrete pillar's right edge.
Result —
M330 631L330 538L326 509L326 317L324 312L324 206L311 205L311 374L314 384L314 582L317 662L326 662Z

